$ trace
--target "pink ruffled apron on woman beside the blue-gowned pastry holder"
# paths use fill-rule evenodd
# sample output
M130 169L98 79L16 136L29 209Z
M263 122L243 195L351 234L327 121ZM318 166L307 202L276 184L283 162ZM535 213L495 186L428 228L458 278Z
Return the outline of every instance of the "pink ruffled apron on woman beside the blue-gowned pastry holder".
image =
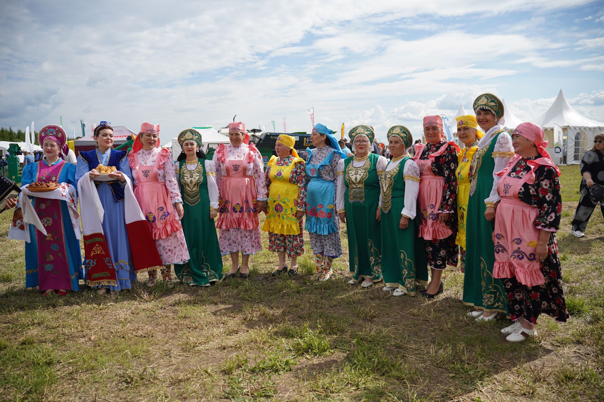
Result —
M181 229L181 222L172 205L168 189L163 181L158 180L157 171L161 160L161 155L157 155L154 165L140 166L138 154L134 154L137 178L134 196L143 210L154 240L165 239Z

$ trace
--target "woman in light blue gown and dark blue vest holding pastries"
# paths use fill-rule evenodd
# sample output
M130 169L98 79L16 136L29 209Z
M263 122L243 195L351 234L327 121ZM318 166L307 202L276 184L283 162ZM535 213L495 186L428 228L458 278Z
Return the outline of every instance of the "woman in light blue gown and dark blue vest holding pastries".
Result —
M101 121L94 129L97 147L92 151L79 152L76 165L76 183L87 172L91 172L91 180L104 174L114 178L112 181L94 182L98 198L106 211L102 222L103 233L117 276L116 286L95 286L99 294L105 294L107 289L111 289L111 293L131 289L132 282L137 280L137 273L132 267L130 258L126 219L124 219L124 186L126 186L126 176L130 180L132 177L126 151L112 149L113 135L111 123ZM83 277L86 277L86 272L83 272Z

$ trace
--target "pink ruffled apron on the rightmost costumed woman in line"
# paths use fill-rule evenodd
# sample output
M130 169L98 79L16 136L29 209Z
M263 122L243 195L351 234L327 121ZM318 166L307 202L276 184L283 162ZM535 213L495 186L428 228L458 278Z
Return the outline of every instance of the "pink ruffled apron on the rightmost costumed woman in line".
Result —
M544 284L545 278L539 269L539 261L535 256L535 247L539 241L539 231L535 220L539 209L523 203L518 198L522 184L534 182L535 174L528 172L522 178L508 177L508 173L518 162L519 157L513 158L507 168L501 172L501 180L497 184L497 192L501 203L495 212L495 265L494 278L513 278L526 285ZM531 180L531 181L529 181Z

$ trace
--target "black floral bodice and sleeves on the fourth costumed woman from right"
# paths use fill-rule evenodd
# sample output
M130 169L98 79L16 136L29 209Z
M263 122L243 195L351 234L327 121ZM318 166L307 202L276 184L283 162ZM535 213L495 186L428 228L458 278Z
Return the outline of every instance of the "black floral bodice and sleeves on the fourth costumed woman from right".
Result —
M444 143L444 140L435 144L427 143L419 159L428 159L429 155L438 151ZM455 176L457 165L457 149L452 145L447 146L445 152L435 157L434 162L432 162L432 173L445 178L445 188L443 189L443 199L439 206L439 213L453 213L457 210L457 177Z

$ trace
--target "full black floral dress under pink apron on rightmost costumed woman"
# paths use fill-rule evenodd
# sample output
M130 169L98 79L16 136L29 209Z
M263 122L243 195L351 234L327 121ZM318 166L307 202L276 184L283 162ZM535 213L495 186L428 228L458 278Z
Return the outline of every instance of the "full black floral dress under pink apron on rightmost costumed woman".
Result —
M509 177L522 178L530 171L528 160L519 159L510 169ZM510 318L516 320L522 316L532 324L537 323L541 314L547 314L556 321L566 322L569 318L564 293L562 292L562 266L558 257L555 231L558 230L562 212L560 181L556 171L550 166L540 165L535 169L535 183L524 183L518 191L518 198L523 203L539 209L539 216L533 225L539 229L551 231L547 244L547 258L539 263L545 283L537 286L526 286L516 278L501 278L506 290L507 308Z

